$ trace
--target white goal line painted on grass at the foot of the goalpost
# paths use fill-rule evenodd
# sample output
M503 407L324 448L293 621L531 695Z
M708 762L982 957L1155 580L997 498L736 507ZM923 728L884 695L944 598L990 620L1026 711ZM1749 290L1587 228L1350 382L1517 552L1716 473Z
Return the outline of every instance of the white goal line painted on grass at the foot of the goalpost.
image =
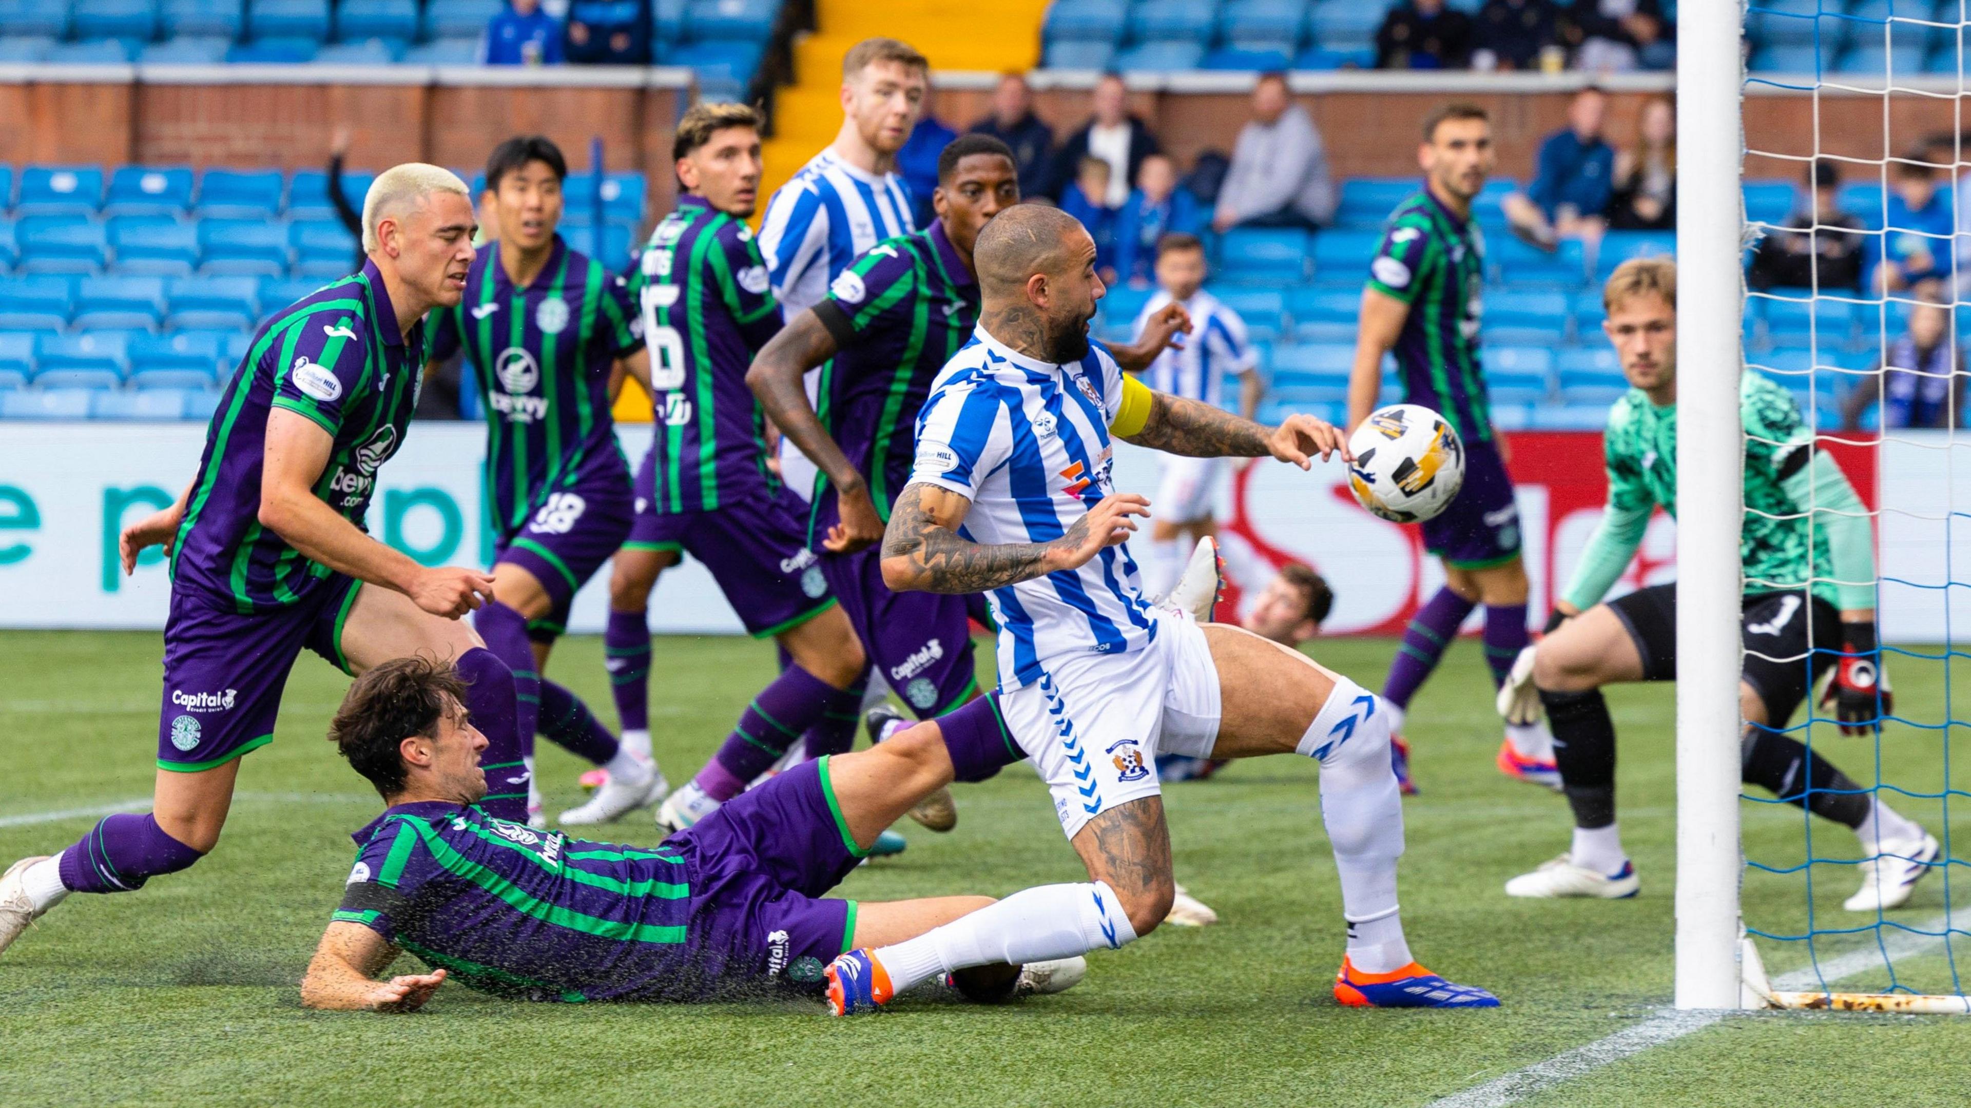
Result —
M1918 927L1918 931L1943 931L1949 927L1949 915L1928 919ZM1910 935L1902 931L1890 933L1882 938L1882 944L1888 946L1890 960L1922 954L1941 942L1943 940L1936 935ZM1823 980L1833 984L1880 964L1882 950L1863 946L1849 950L1847 954L1827 958L1819 964L1817 972L1813 966L1807 966L1782 974L1772 980L1772 988L1782 992L1817 990ZM1734 1011L1736 1009L1658 1009L1656 1015L1634 1027L1624 1027L1622 1031L1595 1039L1585 1047L1575 1047L1573 1051L1553 1055L1543 1063L1508 1073L1506 1076L1492 1078L1484 1084L1466 1088L1464 1092L1433 1100L1431 1108L1504 1108L1506 1104L1518 1104L1535 1092L1569 1082L1608 1063L1618 1063L1626 1057L1640 1055L1650 1047L1662 1047L1664 1043L1703 1031Z

